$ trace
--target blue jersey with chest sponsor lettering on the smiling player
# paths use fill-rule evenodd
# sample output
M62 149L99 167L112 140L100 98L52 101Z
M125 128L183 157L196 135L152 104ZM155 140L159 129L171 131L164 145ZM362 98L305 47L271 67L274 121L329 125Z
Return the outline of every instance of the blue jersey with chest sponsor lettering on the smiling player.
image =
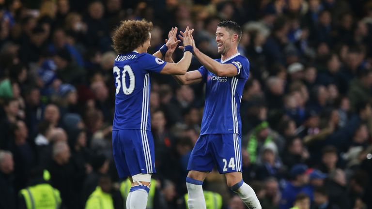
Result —
M240 101L249 76L249 61L239 53L227 60L217 59L216 61L235 65L238 75L219 77L204 66L198 69L203 81L206 82L200 134L241 135Z

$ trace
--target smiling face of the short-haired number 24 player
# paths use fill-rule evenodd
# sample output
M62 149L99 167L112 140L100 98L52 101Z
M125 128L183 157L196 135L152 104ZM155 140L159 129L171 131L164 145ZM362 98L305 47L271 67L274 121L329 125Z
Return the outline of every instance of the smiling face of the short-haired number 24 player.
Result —
M233 40L235 41L233 42ZM236 47L238 44L237 40L237 34L233 34L233 32L224 27L217 27L216 42L218 54L226 54L231 48Z

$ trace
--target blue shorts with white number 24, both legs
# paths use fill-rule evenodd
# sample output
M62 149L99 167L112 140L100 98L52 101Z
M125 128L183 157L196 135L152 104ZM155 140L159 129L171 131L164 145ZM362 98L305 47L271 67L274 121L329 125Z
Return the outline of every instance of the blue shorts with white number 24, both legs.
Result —
M191 151L187 170L212 171L220 174L242 172L242 139L239 134L201 135Z

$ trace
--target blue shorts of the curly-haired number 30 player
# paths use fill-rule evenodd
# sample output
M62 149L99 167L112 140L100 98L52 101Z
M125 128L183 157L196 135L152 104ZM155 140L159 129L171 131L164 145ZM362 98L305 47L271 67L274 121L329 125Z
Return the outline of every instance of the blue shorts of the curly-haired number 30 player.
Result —
M112 131L114 161L120 178L156 173L154 138L151 131Z

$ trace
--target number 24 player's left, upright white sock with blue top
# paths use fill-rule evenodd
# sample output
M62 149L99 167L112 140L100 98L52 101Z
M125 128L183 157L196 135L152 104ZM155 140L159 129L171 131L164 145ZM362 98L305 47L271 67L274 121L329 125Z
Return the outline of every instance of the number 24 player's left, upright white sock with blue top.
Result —
M189 209L206 209L202 184L203 182L200 180L186 178Z

